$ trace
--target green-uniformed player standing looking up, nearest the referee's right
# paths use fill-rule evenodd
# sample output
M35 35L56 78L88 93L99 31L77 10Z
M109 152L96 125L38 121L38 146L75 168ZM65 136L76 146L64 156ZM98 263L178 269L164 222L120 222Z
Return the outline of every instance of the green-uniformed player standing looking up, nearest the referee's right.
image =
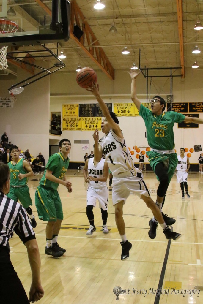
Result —
M53 257L61 257L66 252L58 243L58 234L63 220L63 209L57 188L59 184L64 185L68 192L72 192L71 182L66 180L65 173L68 169L68 154L71 150L71 143L68 139L60 140L59 153L49 157L35 192L35 205L39 219L47 221L45 253Z

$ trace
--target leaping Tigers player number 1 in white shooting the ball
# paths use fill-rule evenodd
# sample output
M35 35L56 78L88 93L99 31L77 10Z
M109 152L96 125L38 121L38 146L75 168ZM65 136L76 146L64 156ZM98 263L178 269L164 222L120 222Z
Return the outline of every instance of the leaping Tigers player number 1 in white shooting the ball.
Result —
M94 82L89 92L96 97L105 118L102 120L101 129L105 133L99 142L99 132L95 130L93 138L95 141L94 159L99 161L102 153L106 156L106 161L110 171L113 174L114 187L112 190L113 205L115 207L115 219L118 232L121 237L121 260L129 257L129 250L132 244L128 242L125 235L125 223L123 219L123 205L130 193L137 194L149 209L152 210L154 217L159 221L167 239L177 240L179 233L170 230L164 222L159 208L152 201L145 182L142 179L142 173L135 168L129 149L125 143L123 133L118 126L118 119L114 112L109 112L106 104L99 94L99 85Z

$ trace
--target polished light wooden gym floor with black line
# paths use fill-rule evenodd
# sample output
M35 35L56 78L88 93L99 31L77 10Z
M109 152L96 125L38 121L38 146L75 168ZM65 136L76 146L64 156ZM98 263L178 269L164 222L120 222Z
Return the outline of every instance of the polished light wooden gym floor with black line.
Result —
M175 241L167 241L158 226L157 236L148 236L151 211L135 195L124 206L126 235L132 243L130 257L121 261L120 237L114 219L112 192L109 192L108 234L101 231L101 212L94 208L96 232L87 237L86 188L82 171L68 170L73 192L59 185L64 220L58 243L66 248L60 258L47 256L46 222L38 219L34 193L41 175L29 181L30 195L37 227L34 229L41 257L41 280L45 290L40 304L171 304L203 303L203 174L188 174L190 199L181 199L176 176L169 185L163 212L174 217L174 231L182 234ZM152 172L144 172L144 180L156 199L158 181ZM111 188L110 188L111 189ZM31 283L26 247L19 237L9 241L11 261L27 294ZM114 294L114 287L123 292ZM197 288L195 288L197 286ZM157 295L156 295L156 292ZM119 293L119 292L117 292Z

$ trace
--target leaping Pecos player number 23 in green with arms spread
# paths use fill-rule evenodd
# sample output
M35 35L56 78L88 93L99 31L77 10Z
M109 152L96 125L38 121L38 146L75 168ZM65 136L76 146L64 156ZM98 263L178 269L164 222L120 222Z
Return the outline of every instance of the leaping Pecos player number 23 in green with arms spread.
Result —
M129 73L129 72L128 72ZM145 121L147 129L147 141L151 151L147 152L149 163L159 180L157 189L156 205L162 211L166 191L173 173L176 169L178 160L174 147L174 123L182 121L190 123L203 123L203 119L184 116L177 112L163 112L166 108L166 102L160 96L155 96L151 100L151 110L145 108L136 95L136 78L141 72L129 73L131 76L131 99L139 111L139 115ZM175 223L175 219L163 214L166 225ZM149 237L156 237L156 227L158 222L155 218L149 221Z

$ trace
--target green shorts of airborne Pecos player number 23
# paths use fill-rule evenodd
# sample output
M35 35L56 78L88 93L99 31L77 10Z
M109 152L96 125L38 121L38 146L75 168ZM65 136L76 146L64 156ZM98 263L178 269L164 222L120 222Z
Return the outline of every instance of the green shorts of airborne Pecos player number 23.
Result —
M169 161L169 167L168 167L168 178L169 183L171 178L173 177L174 171L178 164L178 158L176 153L172 154L160 154L157 152L149 151L146 152L146 154L149 156L149 164L152 167L153 171L155 172L155 167L158 163L163 163L164 161ZM159 178L157 177L159 180Z

